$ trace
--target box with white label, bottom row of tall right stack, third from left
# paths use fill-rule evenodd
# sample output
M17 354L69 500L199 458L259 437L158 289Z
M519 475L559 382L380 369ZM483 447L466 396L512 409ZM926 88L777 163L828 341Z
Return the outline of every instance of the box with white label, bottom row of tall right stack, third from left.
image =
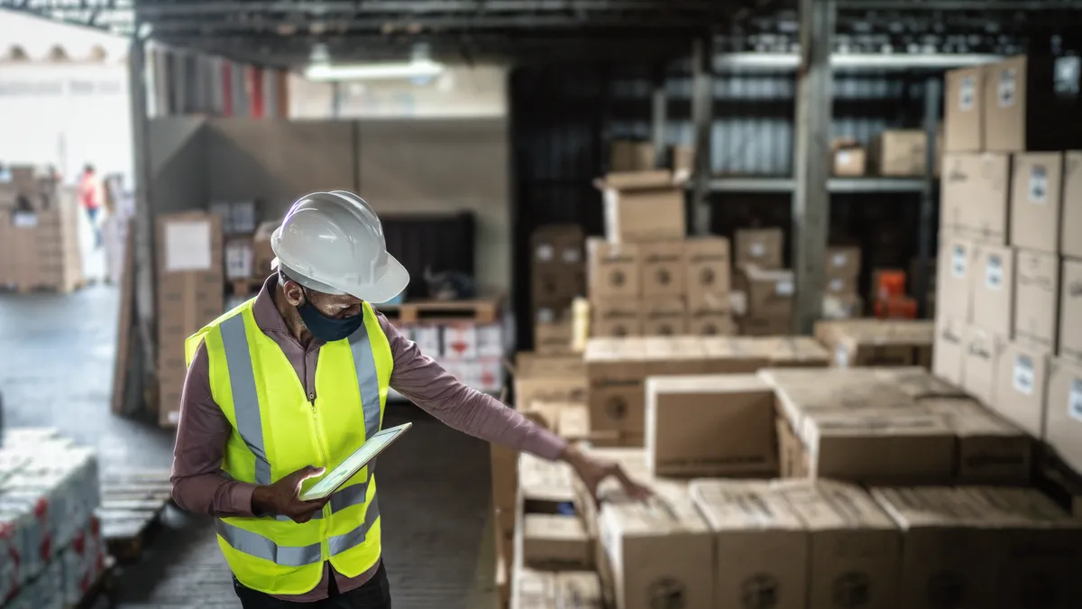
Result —
M1034 438L1044 431L1050 358L1043 349L1012 342L1000 358L992 410Z

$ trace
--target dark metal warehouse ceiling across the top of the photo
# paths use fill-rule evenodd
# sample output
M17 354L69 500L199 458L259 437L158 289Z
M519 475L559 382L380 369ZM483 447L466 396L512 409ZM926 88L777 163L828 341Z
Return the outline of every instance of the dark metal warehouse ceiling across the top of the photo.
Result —
M792 51L796 0L0 0L0 7L235 60L295 67L403 59L662 61L721 35ZM843 51L997 52L1079 30L1082 0L837 0ZM948 31L948 28L950 31ZM999 51L1012 51L999 49Z

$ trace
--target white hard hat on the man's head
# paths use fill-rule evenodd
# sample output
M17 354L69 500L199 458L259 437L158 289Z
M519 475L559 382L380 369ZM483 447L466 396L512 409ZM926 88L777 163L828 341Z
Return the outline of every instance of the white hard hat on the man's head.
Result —
M409 284L409 272L387 254L380 218L345 191L301 197L270 235L270 248L274 268L316 291L379 303Z

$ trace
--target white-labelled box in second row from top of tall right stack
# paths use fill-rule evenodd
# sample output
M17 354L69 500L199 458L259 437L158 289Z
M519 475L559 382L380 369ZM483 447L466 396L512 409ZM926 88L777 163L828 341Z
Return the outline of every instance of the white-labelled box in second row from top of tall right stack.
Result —
M1064 155L1014 155L1011 187L1011 245L1059 252Z

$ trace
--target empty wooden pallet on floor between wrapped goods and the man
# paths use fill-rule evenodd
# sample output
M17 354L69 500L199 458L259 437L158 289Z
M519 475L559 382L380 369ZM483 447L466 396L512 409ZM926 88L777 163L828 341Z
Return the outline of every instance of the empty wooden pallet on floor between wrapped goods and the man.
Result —
M124 471L102 479L102 536L119 560L137 560L143 544L172 502L169 471Z

